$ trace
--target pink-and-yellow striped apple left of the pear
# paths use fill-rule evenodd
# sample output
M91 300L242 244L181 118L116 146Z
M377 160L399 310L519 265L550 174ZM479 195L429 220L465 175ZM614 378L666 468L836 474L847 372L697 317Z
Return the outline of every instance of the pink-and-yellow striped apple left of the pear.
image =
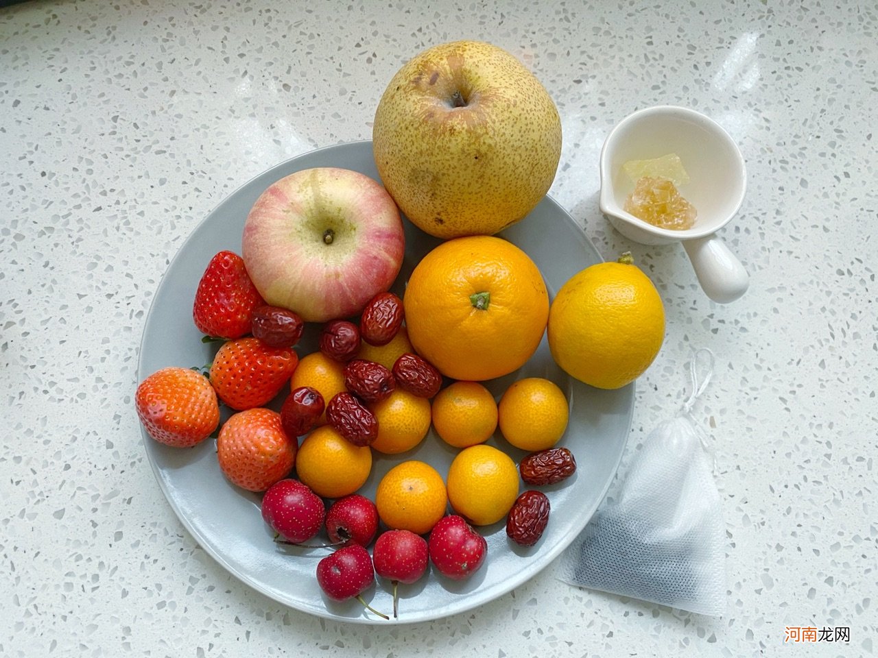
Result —
M367 175L331 167L272 183L249 211L241 239L265 302L306 322L358 314L391 287L405 247L387 191Z

